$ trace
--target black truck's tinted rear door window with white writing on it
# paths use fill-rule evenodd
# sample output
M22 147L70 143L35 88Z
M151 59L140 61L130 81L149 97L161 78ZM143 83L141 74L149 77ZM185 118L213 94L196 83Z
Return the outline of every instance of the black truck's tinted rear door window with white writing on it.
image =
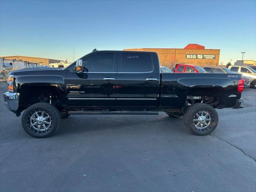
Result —
M153 72L152 56L150 54L122 53L121 68L118 72L143 73Z

